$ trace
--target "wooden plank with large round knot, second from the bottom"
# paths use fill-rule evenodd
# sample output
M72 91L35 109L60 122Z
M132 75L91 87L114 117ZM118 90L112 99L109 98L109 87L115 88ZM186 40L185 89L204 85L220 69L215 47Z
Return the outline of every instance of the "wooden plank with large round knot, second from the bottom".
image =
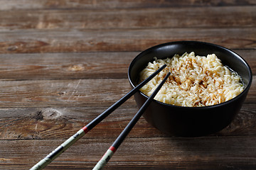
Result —
M97 125L86 138L117 137L138 109L132 104L120 106ZM62 106L48 108L1 108L0 140L47 140L68 139L107 109L107 106ZM240 113L227 128L210 136L256 135L256 106L245 102ZM22 127L22 128L21 128ZM166 137L141 118L129 137Z

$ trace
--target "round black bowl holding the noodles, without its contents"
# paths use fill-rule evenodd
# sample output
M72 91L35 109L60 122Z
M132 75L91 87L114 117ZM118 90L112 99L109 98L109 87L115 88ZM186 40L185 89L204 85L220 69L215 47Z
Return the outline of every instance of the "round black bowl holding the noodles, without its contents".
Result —
M152 62L154 57L164 59L173 57L175 54L183 55L184 52L195 52L196 55L201 56L214 53L224 65L227 65L242 77L245 86L244 91L230 101L213 106L173 106L154 100L143 116L148 123L161 132L173 136L198 137L223 130L239 113L252 84L250 66L235 52L219 45L197 41L168 42L156 45L141 52L132 60L128 70L129 82L134 88L138 83L139 72L149 62ZM139 91L134 94L134 98L140 108L148 96Z

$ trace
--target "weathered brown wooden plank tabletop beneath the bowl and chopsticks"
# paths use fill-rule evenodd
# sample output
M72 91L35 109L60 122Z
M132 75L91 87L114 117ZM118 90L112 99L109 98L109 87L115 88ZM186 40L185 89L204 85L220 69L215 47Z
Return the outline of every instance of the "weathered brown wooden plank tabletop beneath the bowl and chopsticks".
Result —
M30 169L129 90L142 50L199 40L238 52L256 79L256 2L0 1L0 169ZM256 83L233 123L169 137L141 118L105 169L256 169ZM46 169L92 169L137 112L134 98Z

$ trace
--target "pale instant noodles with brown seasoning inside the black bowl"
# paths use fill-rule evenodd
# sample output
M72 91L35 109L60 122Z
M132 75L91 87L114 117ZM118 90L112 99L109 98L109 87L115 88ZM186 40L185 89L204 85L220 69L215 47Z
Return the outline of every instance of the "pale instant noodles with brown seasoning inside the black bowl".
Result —
M155 57L140 72L139 81L149 77L164 64L167 65L164 71L140 89L150 96L165 75L171 72L154 98L163 103L186 107L213 106L235 98L244 89L241 77L224 66L215 54L205 57L196 56L195 52L185 52L181 56L174 55L166 59Z

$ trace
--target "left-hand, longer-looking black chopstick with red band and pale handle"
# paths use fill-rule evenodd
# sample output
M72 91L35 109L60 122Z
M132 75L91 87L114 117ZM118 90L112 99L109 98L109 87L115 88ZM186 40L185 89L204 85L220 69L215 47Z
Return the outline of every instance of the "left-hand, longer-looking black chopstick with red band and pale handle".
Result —
M153 79L156 74L159 74L162 69L166 67L166 64L164 64L162 67L160 67L156 72L151 74L148 78L146 78L142 83L137 85L134 89L129 91L127 94L125 94L122 98L119 99L116 103L114 103L110 108L107 108L106 111L101 113L97 116L94 120L92 120L90 123L85 125L82 129L78 130L78 132L75 133L75 135L71 136L68 140L63 142L60 146L58 146L56 149L53 150L53 152L50 152L45 158L41 159L40 162L35 164L30 170L41 170L44 167L46 167L50 162L52 162L55 158L57 158L60 154L62 154L66 149L68 149L71 145L73 145L76 141L78 141L83 135L85 135L87 132L92 130L92 128L95 128L95 126L100 123L102 120L104 120L110 113L112 113L116 108L122 105L125 101L127 101L128 98L130 98L132 95L134 95L139 89L142 88L147 82L149 82L151 79Z

